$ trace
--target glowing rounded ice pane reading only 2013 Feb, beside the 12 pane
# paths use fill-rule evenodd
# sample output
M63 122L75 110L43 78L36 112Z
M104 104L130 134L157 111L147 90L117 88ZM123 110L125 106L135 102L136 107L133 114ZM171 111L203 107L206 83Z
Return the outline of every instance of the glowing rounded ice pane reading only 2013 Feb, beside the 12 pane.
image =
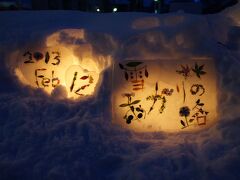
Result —
M26 50L19 57L17 75L24 84L42 88L47 93L58 85L66 85L65 72L73 64L74 55L67 48L58 46ZM20 73L21 72L21 73Z

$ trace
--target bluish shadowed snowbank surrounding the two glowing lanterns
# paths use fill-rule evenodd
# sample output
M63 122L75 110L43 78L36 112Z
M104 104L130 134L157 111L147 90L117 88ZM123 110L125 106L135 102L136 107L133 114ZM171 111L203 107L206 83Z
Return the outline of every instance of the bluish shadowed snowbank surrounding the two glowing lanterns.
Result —
M240 4L215 15L0 14L0 179L240 179ZM219 120L194 133L135 133L111 123L111 68L96 97L72 102L22 85L10 54L60 29L84 29L94 51L125 58L212 57Z

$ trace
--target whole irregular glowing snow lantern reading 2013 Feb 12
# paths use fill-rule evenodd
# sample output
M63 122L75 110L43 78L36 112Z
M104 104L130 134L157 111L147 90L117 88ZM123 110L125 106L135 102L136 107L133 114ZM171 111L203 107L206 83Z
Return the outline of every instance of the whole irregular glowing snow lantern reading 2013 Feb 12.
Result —
M43 48L24 49L19 54L15 72L22 83L48 94L63 86L72 99L94 95L100 73L106 68L106 58L93 55L84 30L56 32L46 38Z

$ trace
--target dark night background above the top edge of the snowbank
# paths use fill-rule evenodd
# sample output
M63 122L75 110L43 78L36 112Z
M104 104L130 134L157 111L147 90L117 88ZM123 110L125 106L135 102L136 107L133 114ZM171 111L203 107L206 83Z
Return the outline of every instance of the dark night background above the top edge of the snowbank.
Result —
M118 12L167 13L184 10L208 14L217 13L237 2L238 0L1 0L0 10L113 12L116 8L115 11Z

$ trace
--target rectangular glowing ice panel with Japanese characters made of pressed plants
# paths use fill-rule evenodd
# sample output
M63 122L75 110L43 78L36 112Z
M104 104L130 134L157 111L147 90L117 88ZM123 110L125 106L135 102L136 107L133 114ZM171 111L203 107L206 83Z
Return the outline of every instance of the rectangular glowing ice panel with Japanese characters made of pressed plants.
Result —
M194 131L217 119L210 59L123 61L114 66L113 121L134 131Z

